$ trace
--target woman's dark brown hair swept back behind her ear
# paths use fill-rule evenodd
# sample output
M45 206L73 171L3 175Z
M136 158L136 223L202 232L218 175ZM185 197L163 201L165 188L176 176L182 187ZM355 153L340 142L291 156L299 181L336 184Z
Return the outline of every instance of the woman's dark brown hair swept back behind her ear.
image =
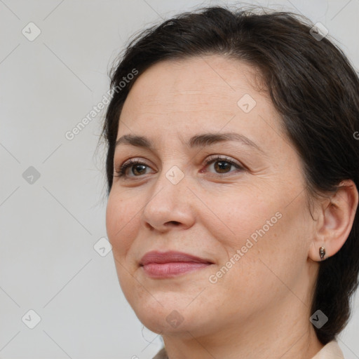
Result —
M161 60L213 54L259 70L302 159L308 194L335 192L343 179L352 179L358 188L358 75L332 41L312 36L313 24L307 18L261 10L202 8L146 29L130 42L110 74L114 95L102 133L108 145L108 193L119 116L137 77L126 86L123 78L134 69L142 74ZM349 318L351 295L358 286L358 227L357 212L341 250L320 263L311 313L320 309L329 318L320 329L315 327L322 344L335 339Z

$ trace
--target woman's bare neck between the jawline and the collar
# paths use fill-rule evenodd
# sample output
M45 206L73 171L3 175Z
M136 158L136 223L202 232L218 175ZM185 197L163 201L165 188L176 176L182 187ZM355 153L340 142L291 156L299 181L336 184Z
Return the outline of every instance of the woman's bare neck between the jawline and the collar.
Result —
M300 300L293 305L292 293L287 305L257 313L253 318L205 333L189 328L181 333L163 335L170 359L311 359L323 344L318 341L309 317L309 307ZM202 334L201 334L202 333ZM219 334L220 333L220 334Z

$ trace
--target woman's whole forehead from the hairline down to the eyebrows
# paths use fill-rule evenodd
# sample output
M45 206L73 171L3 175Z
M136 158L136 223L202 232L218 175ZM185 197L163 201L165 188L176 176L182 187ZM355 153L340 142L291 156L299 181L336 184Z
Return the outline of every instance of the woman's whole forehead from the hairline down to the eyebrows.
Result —
M117 137L135 131L184 138L225 130L270 142L272 131L278 141L279 116L268 94L257 91L255 74L249 65L219 55L158 62L131 88Z

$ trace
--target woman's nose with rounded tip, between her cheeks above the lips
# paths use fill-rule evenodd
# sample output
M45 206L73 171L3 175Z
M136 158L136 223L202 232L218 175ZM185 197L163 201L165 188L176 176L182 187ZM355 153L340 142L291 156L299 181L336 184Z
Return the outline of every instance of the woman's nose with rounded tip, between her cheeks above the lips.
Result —
M195 196L188 188L186 175L183 175L178 168L161 172L154 185L148 187L147 204L142 210L144 226L152 231L165 232L176 227L188 229L194 224ZM180 177L182 179L177 182Z

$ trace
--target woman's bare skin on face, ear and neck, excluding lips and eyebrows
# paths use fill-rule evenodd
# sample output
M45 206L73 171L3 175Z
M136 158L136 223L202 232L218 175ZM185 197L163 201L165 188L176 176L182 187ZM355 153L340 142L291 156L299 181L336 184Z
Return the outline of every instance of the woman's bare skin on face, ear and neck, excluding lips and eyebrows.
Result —
M127 179L114 177L107 234L118 280L137 317L161 333L170 359L309 359L323 345L309 321L320 262L337 252L351 230L358 191L348 181L309 212L301 160L280 128L266 92L253 86L254 69L219 55L153 65L135 81L123 106L118 136L142 135L153 151L120 144L114 165L138 158ZM249 94L245 113L238 100ZM240 133L241 142L189 148L201 133ZM212 155L244 165L220 170ZM172 184L177 166L184 177ZM178 175L178 174L177 174ZM241 259L252 233L276 213ZM210 266L170 279L147 276L139 265L150 250L177 250L210 259ZM232 258L231 268L210 283ZM213 277L212 277L213 278ZM166 320L182 320L176 327ZM171 318L171 317L170 317Z

